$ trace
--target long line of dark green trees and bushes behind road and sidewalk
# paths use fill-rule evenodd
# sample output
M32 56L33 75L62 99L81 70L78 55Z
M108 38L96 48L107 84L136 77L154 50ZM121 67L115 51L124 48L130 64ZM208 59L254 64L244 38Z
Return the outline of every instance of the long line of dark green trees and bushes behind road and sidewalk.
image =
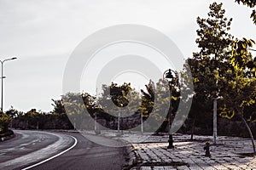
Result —
M251 1L236 2L250 8L256 5ZM251 18L255 24L255 10ZM207 18L198 17L196 22L199 26L195 40L198 51L186 61L192 73L195 93L190 96L193 102L180 132L212 134L212 100L218 99L219 134L248 134L253 138L253 135L256 136L256 58L250 53L250 49L255 42L250 38L239 39L230 34L232 19L225 17L222 3L212 3ZM52 99L53 111L48 113L35 109L22 112L11 108L1 116L0 131L4 132L8 126L24 129L83 127L86 126L83 122L86 116L88 119L96 119L103 126L117 129L117 116L111 116L108 112L114 112L119 107L125 109L123 114L132 112L136 120L143 116L143 121L147 120L154 109L155 122L163 120L157 133L166 132L168 115L164 113L168 112L168 90L168 83L160 79L159 82L148 82L146 90L140 92L132 88L131 83L125 82L121 85L103 85L103 92L99 97L88 93L64 94L61 99ZM171 90L172 114L177 112L182 98L178 82L172 82ZM82 100L83 105L78 100ZM156 100L160 100L160 105L154 108ZM89 115L85 114L84 109ZM118 111L114 114L118 114ZM123 123L121 128L128 129L129 125L139 121L127 123L128 127ZM237 130L238 127L241 131Z

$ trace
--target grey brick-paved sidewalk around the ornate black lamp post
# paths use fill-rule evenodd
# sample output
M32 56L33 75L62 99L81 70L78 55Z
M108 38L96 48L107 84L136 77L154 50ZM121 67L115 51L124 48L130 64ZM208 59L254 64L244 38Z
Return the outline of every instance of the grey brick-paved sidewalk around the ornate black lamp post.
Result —
M132 144L136 165L131 169L255 169L256 156L252 153L249 139L218 137L218 144L211 145L211 157L204 156L205 141L212 137L195 136L190 142L189 135L174 135L174 149L166 149L166 136L152 136L143 144ZM148 143L149 142L149 143Z

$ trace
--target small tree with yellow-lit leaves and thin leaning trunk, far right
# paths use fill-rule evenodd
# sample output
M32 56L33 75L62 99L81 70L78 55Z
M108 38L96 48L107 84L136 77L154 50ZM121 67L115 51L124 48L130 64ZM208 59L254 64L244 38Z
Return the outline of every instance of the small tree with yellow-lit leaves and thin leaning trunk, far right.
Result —
M253 55L247 51L248 47L253 47L253 43L253 40L243 38L242 40L236 39L232 44L232 54L229 61L233 67L227 71L227 77L222 78L224 83L222 89L224 111L221 114L228 118L235 114L241 117L241 121L247 127L252 139L253 151L256 153L253 133L244 118L245 108L256 102L255 58L253 59Z

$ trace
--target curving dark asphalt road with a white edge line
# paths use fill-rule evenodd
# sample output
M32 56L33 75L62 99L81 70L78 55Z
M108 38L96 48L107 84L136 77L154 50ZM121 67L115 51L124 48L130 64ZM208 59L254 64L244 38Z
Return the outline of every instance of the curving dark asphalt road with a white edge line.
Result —
M122 169L125 164L122 147L95 144L80 133L15 133L15 139L0 143L0 169Z

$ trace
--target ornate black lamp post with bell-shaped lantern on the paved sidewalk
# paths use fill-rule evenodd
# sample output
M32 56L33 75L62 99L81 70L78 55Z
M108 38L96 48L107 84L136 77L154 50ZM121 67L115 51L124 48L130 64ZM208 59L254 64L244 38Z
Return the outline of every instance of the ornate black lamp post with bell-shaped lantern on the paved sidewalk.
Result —
M172 79L174 79L175 76L173 76L172 73L174 73L174 75L175 75L175 72L172 71L171 69L169 69L169 70L165 71L164 74L163 74L163 79L166 79L168 81L169 90L170 90L170 106L169 106L169 111L168 111L168 114L169 114L169 120L168 120L169 139L168 139L168 143L169 143L169 145L167 146L167 149L174 148L173 139L172 139L172 131L171 131L171 127L172 127L171 121L172 121Z

